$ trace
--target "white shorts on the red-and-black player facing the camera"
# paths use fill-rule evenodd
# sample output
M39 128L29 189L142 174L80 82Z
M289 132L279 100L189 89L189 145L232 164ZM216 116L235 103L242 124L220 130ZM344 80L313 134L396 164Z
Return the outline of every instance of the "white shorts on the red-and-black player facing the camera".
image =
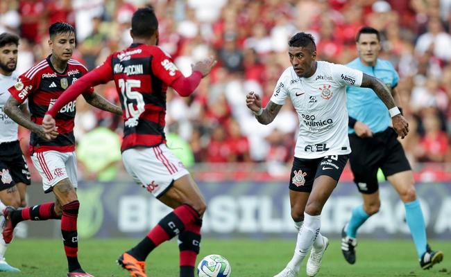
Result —
M50 193L59 181L69 178L72 186L77 187L77 159L75 152L46 151L31 156L33 165L42 177L44 193Z

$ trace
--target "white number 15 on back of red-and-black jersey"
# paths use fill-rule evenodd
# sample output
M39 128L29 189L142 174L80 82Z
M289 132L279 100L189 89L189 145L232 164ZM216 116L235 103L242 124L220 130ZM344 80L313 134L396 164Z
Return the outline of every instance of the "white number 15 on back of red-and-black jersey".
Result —
M144 111L144 98L142 98L141 93L132 89L141 87L141 81L119 79L119 87L121 88L121 94L124 98L126 118L139 117ZM136 100L136 109L133 107L135 104L131 102L131 100Z

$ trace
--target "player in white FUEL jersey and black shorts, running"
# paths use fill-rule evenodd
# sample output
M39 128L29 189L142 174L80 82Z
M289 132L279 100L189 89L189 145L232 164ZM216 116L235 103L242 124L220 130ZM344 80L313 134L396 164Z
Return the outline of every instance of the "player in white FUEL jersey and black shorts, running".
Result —
M321 211L351 152L346 86L373 89L389 109L396 133L404 138L409 129L389 88L379 79L341 64L316 62L316 44L310 34L297 33L288 45L292 66L280 76L268 105L263 109L261 98L253 92L246 96L246 105L264 125L274 120L287 98L298 113L299 134L289 197L291 217L299 231L293 258L275 277L298 276L310 247L307 276L315 276L328 244L320 233Z

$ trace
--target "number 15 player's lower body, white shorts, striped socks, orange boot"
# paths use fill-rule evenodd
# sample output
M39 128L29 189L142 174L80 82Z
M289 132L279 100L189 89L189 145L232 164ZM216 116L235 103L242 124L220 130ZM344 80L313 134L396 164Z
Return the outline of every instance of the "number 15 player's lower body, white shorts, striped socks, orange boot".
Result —
M206 207L196 183L166 145L126 150L123 160L126 170L136 181L174 210L133 249L121 255L119 264L132 276L145 276L144 260L148 254L162 242L179 235L182 242L180 276L194 276L201 240L201 217Z

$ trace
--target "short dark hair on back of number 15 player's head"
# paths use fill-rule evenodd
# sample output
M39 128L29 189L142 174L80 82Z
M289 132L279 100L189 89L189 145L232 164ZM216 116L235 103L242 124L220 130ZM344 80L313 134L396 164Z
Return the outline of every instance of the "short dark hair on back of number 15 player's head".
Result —
M135 37L151 37L158 30L158 19L152 6L139 8L132 17L132 31Z

